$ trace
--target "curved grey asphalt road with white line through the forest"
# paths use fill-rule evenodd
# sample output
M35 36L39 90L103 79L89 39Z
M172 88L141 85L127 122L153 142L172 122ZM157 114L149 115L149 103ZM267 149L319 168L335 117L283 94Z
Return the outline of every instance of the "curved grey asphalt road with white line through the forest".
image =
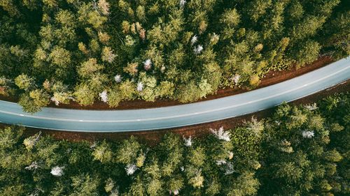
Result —
M122 132L175 128L257 112L327 89L350 78L350 56L310 73L262 89L199 103L142 110L67 110L46 107L36 114L0 100L0 121L34 128Z

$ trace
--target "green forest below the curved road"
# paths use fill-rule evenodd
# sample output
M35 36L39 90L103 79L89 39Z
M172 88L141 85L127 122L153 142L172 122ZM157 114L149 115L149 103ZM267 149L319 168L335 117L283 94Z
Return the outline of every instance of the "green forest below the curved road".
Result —
M69 142L0 130L0 195L349 195L350 93L204 137Z

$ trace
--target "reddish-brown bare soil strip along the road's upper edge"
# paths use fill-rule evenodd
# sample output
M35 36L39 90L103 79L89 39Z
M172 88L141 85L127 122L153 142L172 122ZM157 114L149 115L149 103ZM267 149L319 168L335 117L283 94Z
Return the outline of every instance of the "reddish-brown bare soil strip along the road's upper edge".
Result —
M310 63L309 65L306 65L299 69L293 67L293 68L290 68L290 70L270 71L265 75L265 77L262 78L259 86L256 89L292 79L293 77L297 77L299 75L303 75L304 73L308 73L312 70L316 70L318 68L326 66L331 62L332 62L332 59L330 58L330 56L323 56L318 60L314 61L313 63ZM209 95L207 96L207 98L203 98L201 100L198 100L197 102L200 102L203 100L212 100L216 98L222 98L225 96L232 96L235 94L244 93L246 91L248 91L248 89L241 89L241 88L219 89L215 94ZM18 102L18 99L13 97L0 96L0 100ZM53 103L50 103L48 107L59 107L59 108L78 109L78 110L131 110L131 109L141 109L141 108L151 108L151 107L166 107L166 106L181 105L181 104L184 104L184 103L179 103L179 101L169 100L169 99L155 100L155 102L147 102L145 100L130 100L130 101L123 101L119 104L118 107L111 108L106 103L103 103L100 100L96 100L93 105L87 105L87 106L82 106L76 102L71 101L71 103L69 104L61 104L59 106Z

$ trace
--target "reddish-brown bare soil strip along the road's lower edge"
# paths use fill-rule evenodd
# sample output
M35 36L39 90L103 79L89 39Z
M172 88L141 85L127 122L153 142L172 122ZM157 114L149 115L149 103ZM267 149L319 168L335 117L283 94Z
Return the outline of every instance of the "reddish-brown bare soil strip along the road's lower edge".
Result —
M337 86L333 86L330 89L325 89L318 93L315 93L311 96L307 96L301 98L299 100L295 100L292 104L307 104L313 103L317 100L321 100L327 96L330 96L334 93L346 92L350 90L350 80L343 82L342 84L338 84ZM269 116L272 116L275 108L270 108L267 110L262 110L260 112L255 112L252 114L246 114L244 116L238 116L232 119L225 119L222 121L215 121L211 123L202 123L194 126L186 126L183 128L174 128L167 130L151 130L151 131L141 131L141 132L125 132L125 133L77 133L77 132L66 132L66 131L57 131L57 130L40 130L35 128L26 128L26 135L34 135L38 133L38 131L43 132L43 134L52 135L57 140L71 140L71 141L80 141L87 140L90 142L96 140L123 140L130 137L130 135L134 135L139 138L141 142L145 142L146 144L157 144L163 135L167 133L176 133L179 135L190 136L193 137L201 137L203 135L207 135L210 133L210 128L223 128L230 129L235 128L237 126L241 126L244 121L250 121L252 116L256 119L263 119ZM4 124L0 124L1 126L5 126Z

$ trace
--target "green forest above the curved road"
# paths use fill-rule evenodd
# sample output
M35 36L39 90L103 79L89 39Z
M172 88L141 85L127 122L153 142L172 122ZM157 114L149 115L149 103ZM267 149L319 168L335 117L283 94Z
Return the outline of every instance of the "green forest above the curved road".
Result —
M110 107L219 88L350 54L344 0L0 0L0 95Z

